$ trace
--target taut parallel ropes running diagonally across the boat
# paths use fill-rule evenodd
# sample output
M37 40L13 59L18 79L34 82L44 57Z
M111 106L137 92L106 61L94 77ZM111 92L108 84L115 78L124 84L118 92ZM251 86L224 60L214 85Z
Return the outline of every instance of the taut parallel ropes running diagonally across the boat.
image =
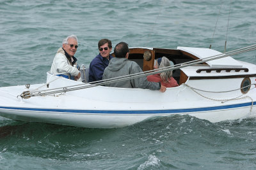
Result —
M228 57L230 55L236 55L239 53L244 53L244 52L249 52L252 50L256 50L256 45L251 45L251 46L247 46L244 48L239 48L237 50L232 50L230 52L227 53L220 53L218 55L212 55L210 57L205 57L204 59L197 59L197 60L192 60L189 62L184 62L181 64L176 64L173 66L169 66L169 67L163 67L161 69L154 69L154 71L150 70L150 71L145 71L145 72L141 72L141 73L135 73L135 74L129 74L129 75L125 75L125 76L119 76L116 78L109 78L106 80L99 80L99 81L93 81L91 83L81 83L79 85L71 85L71 86L67 86L67 87L60 87L60 88L56 88L56 89L46 89L46 90L33 90L31 92L26 91L23 92L20 96L21 97L31 97L31 96L45 96L47 94L55 94L55 93L60 93L60 92L68 92L68 91L72 91L72 90L79 90L79 89L87 89L87 88L91 88L91 87L96 87L99 85L106 85L108 83L114 83L117 81L124 81L124 80L130 80L133 78L140 78L141 76L148 76L151 74L157 74L157 73L162 73L164 71L171 71L174 69L180 69L182 67L188 67L188 66L192 66L195 64L200 64L202 62L207 62L209 60L216 60L216 59L221 59L223 57ZM54 80L53 80L54 81ZM49 84L49 83L48 83Z

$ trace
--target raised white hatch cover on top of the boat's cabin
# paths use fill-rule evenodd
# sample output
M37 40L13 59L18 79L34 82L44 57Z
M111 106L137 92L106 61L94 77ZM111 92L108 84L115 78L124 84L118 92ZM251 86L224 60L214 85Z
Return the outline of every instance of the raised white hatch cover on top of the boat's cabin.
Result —
M218 52L216 50L212 50L209 48L193 48L193 47L178 46L177 50L182 50L184 52L191 53L192 55L195 55L199 59L205 59L207 57L221 54L221 52ZM237 60L235 60L229 56L223 57L221 59L209 60L206 63L209 64L210 67L214 67L214 68L221 68L221 67L241 68L241 67L243 67L241 62L238 62Z

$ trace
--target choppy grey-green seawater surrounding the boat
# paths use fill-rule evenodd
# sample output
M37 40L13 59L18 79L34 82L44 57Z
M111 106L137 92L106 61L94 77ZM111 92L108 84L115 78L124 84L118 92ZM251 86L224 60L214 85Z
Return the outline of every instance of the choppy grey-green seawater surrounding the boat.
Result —
M0 1L0 87L45 82L70 34L87 68L102 38L220 52L226 40L227 51L253 45L255 8L254 0L231 8L224 0ZM256 64L255 51L234 58ZM255 169L255 140L255 118L213 124L184 115L116 129L0 118L0 169Z

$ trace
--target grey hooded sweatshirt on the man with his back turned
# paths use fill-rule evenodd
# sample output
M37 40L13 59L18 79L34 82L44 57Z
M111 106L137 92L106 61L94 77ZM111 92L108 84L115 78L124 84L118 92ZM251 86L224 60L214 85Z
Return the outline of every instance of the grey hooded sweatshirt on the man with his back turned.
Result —
M103 80L141 72L142 70L136 62L127 60L125 58L118 59L114 57L109 62L108 67L106 67L106 69L104 70ZM146 76L140 78L133 78L130 80L118 81L115 83L108 83L106 84L106 86L140 88L150 90L159 90L161 87L160 83L147 81Z

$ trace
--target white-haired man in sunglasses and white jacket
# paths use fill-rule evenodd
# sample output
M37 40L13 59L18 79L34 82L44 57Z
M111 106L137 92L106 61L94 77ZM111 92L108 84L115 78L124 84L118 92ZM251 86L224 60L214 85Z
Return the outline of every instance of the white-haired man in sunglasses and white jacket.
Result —
M71 80L78 80L80 78L81 74L77 69L77 59L74 57L78 47L77 44L77 37L75 35L68 36L63 40L62 48L58 49L53 59L51 74L57 74L57 76L63 76Z

